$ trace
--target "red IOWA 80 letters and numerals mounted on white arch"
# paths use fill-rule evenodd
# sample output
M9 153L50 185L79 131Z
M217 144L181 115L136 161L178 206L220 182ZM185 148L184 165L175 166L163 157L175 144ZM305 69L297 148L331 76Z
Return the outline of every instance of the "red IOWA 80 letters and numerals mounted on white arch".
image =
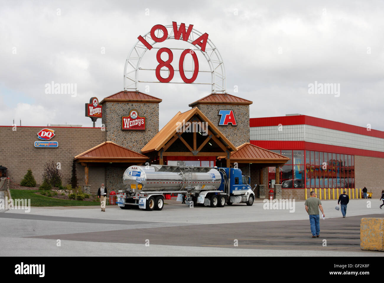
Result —
M172 22L172 25L173 25L173 33L175 35L175 39L180 40L180 37L182 37L182 39L184 41L187 41L188 37L192 31L193 25L189 25L188 29L185 28L185 23L181 23L179 29L177 29L177 23L176 22ZM155 35L156 30L162 30L163 36L162 37L156 37L156 35ZM164 40L167 39L167 37L168 37L168 31L167 31L167 28L164 27L164 25L154 25L151 28L151 38L155 42L163 42ZM144 44L144 46L147 47L148 50L152 49L152 45L149 44L141 35L139 35L139 37L137 37L137 39L139 39L140 42L142 44ZM202 52L205 52L205 45L207 45L207 40L208 40L208 33L204 33L199 38L194 40L192 42L192 44L193 45L199 45ZM163 61L161 59L161 54L163 52L166 52L168 54L168 60L166 60L166 61ZM185 58L185 55L187 55L187 54L192 55L192 58L194 60L194 65L195 65L193 75L190 79L187 79L187 77L185 77L184 67L183 67L184 58ZM156 67L156 78L160 82L170 82L174 76L174 73L175 73L172 65L170 64L170 63L172 63L172 60L173 60L172 51L166 47L160 48L159 51L157 51L156 59L157 59L157 62L159 62L159 65L157 65L157 67ZM169 75L166 78L163 78L160 75L160 70L162 67L166 67L169 70ZM197 55L195 54L195 52L192 49L185 49L182 52L182 54L180 55L179 72L180 72L181 79L187 84L190 84L196 80L197 74L199 73L199 61L197 60Z

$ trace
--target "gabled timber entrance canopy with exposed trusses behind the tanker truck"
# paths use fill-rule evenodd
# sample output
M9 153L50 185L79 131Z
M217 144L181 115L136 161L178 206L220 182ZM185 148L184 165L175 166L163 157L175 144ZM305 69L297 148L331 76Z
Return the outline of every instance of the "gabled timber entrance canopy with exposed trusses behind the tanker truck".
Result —
M142 149L157 152L159 164L164 156L227 156L236 147L197 108L178 112ZM228 163L229 164L229 163Z

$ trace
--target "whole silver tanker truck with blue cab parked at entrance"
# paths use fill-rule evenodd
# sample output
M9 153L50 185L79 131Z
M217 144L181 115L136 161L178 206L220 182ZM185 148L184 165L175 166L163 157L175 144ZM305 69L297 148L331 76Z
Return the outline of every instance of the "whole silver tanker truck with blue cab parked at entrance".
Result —
M249 183L249 177L248 177ZM253 204L255 193L238 168L191 166L130 166L123 174L125 190L117 193L121 209L138 206L162 210L164 194L185 195L186 204L224 207L227 203Z

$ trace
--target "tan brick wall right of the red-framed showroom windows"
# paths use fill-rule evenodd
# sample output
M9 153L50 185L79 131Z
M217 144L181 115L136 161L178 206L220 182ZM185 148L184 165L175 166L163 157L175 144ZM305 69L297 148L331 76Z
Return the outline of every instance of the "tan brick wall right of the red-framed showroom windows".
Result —
M374 199L379 199L384 190L382 175L384 171L384 158L356 156L355 155L355 187L366 187L372 192Z

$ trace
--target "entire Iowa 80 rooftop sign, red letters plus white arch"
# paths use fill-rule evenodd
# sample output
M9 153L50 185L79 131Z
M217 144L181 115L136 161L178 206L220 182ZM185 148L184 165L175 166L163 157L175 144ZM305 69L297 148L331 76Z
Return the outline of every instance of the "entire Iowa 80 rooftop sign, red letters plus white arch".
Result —
M143 36L139 35L137 39L138 41L129 53L124 67L124 90L139 91L139 82L159 82L175 84L206 84L212 86L212 92L225 92L225 69L223 60L217 48L209 39L208 33L199 32L194 29L194 25L191 24L186 27L185 23L180 23L178 25L176 22L172 22L172 25L154 25L149 32ZM172 48L170 46L162 48L154 47L155 44L164 42L167 39L188 42L192 45L192 47L184 50L181 49L183 51L181 52L180 57L177 56L178 58L175 58L172 50L180 50L180 48ZM172 42L174 41L170 41L169 43L171 44ZM142 57L147 50L151 49L158 49L156 52L156 69L154 69L155 66L152 68L140 66ZM197 52L201 52L201 54L205 57L207 60L206 65L209 66L210 70L200 70L199 59L196 54ZM161 55L163 53L168 55L167 60L161 59ZM192 56L192 70L185 70L185 56ZM178 63L178 69L173 67L171 63ZM157 81L140 80L139 71L144 70L152 70L152 72L154 70ZM162 77L160 74L161 71L168 71L168 76ZM179 72L183 82L172 81L175 72ZM187 78L185 72L192 72L192 76L189 75L190 78ZM195 82L199 72L211 72L212 80L210 82Z

